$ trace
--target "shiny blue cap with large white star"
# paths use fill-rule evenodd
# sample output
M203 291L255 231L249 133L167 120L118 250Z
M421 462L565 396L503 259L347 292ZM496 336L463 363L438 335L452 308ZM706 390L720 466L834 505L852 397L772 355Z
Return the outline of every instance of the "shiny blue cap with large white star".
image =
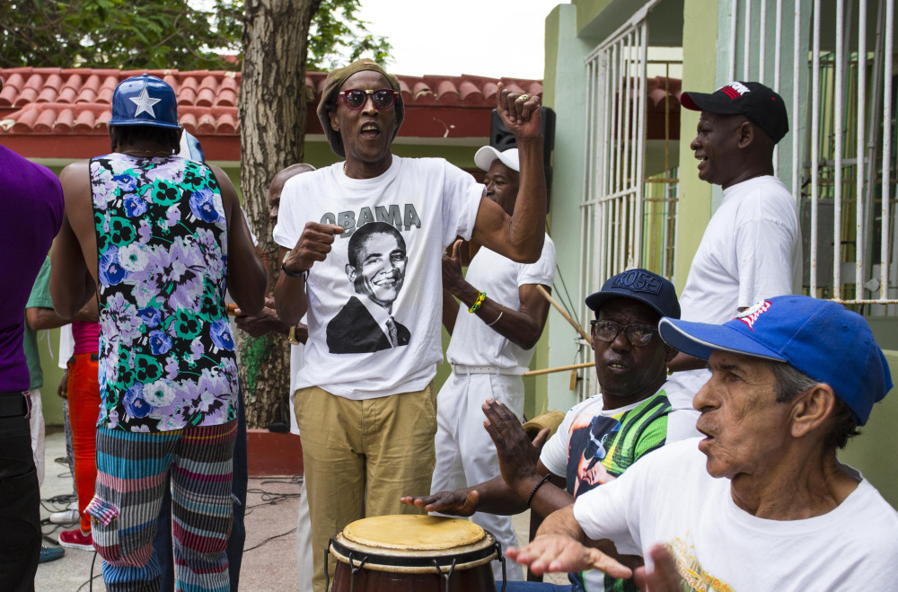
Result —
M154 126L180 129L178 98L169 84L148 74L123 80L112 93L114 126Z

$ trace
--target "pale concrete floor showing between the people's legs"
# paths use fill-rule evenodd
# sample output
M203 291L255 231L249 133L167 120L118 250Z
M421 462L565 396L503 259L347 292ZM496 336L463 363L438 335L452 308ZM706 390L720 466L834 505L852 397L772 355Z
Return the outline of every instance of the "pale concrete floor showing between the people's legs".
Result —
M67 466L54 462L65 456L66 441L62 430L48 429L46 475L40 491L40 497L44 500L40 510L41 518L47 518L50 512L66 506L65 503L50 503L48 499L73 492L72 476ZM243 552L240 589L242 592L297 590L295 526L302 481L298 477L251 479L249 490L244 544L246 551ZM526 540L529 521L529 512L513 519L518 538L522 542ZM76 526L45 525L43 531L44 535L56 542L60 532L74 527ZM45 544L51 543L45 541ZM62 559L41 563L34 582L36 592L105 591L100 575L100 557L93 564L91 579L93 559L93 552L66 549ZM567 578L562 574L550 574L546 581L566 584Z

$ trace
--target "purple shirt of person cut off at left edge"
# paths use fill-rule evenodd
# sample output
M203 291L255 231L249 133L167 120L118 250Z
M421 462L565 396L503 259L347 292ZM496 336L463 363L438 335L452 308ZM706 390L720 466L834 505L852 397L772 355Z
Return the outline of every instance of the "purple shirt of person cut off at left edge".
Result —
M0 146L0 393L28 390L25 304L62 225L63 208L53 172Z

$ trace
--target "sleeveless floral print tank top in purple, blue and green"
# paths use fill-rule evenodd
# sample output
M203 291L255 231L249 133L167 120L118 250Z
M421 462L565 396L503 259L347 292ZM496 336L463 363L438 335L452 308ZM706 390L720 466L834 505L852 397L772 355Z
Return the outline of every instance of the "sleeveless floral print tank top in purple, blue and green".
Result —
M216 178L178 156L91 160L100 300L98 426L164 432L237 416Z

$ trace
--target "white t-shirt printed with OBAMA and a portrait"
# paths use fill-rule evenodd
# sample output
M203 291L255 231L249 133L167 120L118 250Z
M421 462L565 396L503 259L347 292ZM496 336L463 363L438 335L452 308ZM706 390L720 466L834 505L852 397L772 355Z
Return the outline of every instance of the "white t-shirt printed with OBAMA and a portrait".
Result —
M327 259L309 273L309 340L297 388L316 385L362 400L427 386L443 358L443 251L456 236L471 238L482 195L483 186L470 174L437 158L393 155L390 168L374 179L350 179L336 163L286 181L274 229L277 244L292 249L310 221L345 229ZM393 259L400 246L393 238L374 266L392 264L386 281L399 291L387 311L394 335L376 326L362 303L365 290L376 292L383 276L365 277L365 265L349 265L350 237L375 222L400 231L408 258L404 265ZM378 236L385 240L390 234ZM367 261L370 254L363 249L359 257ZM350 271L356 273L355 286ZM338 353L345 350L350 353Z

